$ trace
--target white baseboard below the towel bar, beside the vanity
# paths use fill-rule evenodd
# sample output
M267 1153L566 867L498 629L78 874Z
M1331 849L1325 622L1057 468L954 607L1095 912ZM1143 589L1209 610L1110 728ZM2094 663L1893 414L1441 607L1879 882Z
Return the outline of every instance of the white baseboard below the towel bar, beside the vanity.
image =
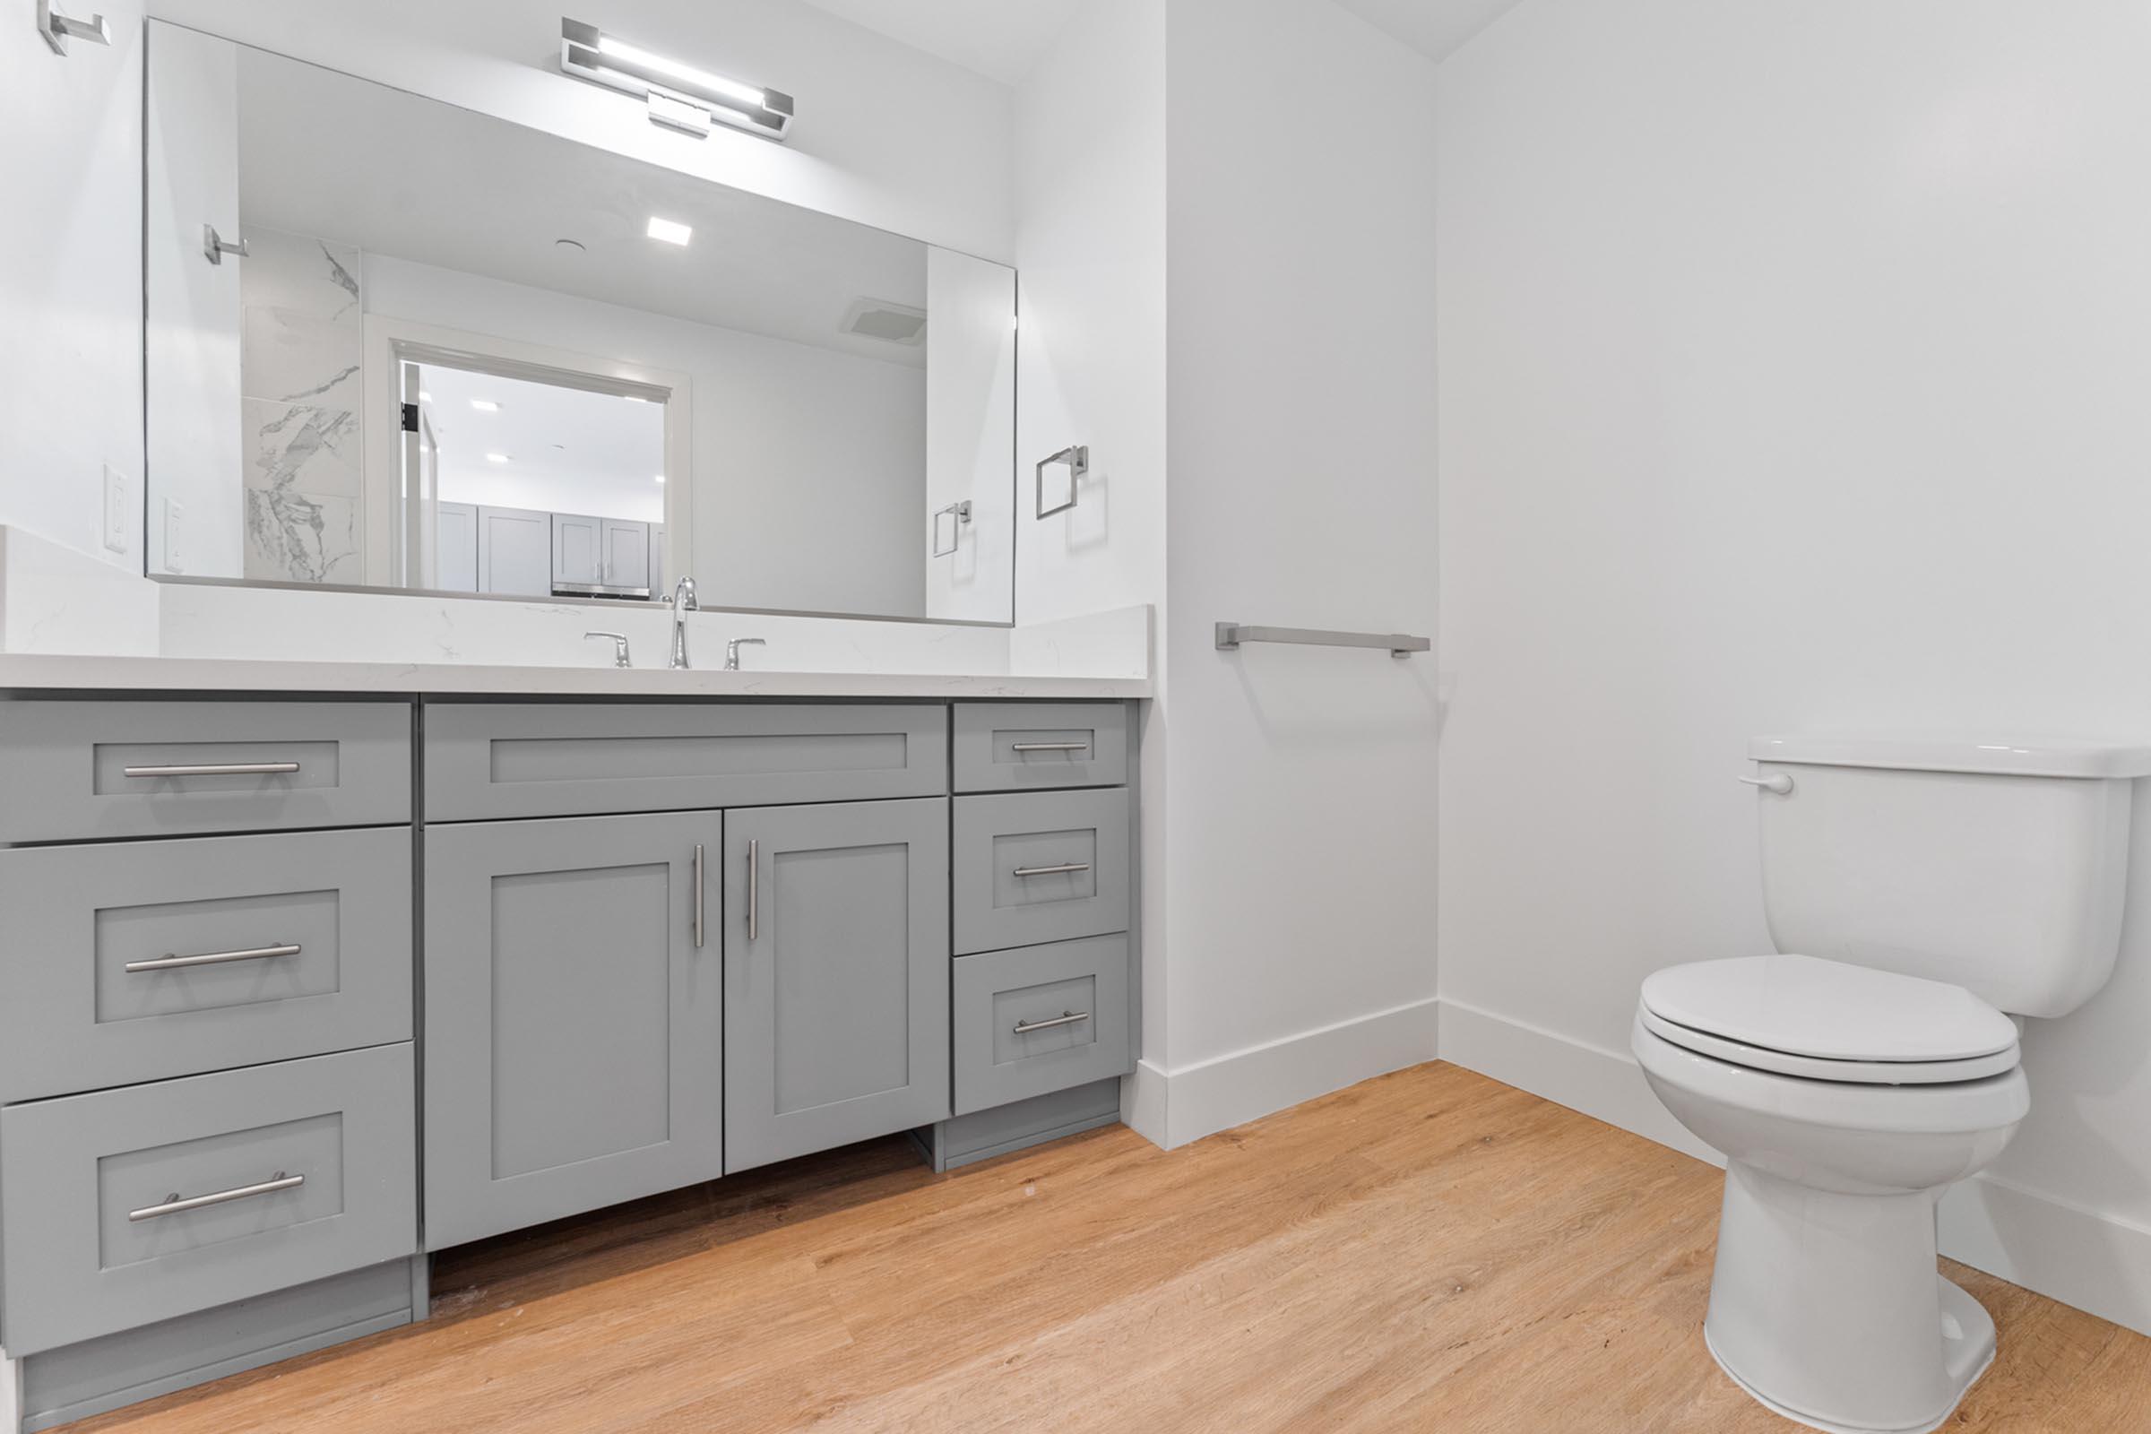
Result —
M1260 1116L1435 1058L1433 1000L1306 1030L1174 1071L1136 1062L1123 1086L1127 1124L1144 1139L1185 1146Z

